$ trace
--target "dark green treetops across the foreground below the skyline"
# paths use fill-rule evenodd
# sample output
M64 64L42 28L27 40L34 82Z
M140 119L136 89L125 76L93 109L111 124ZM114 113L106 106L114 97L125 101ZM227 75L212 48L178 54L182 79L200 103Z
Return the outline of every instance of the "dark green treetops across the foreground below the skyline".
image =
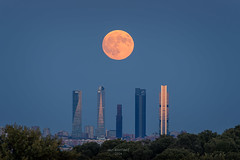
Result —
M240 125L221 135L206 130L161 136L155 141L85 143L61 151L61 140L42 138L39 130L7 125L0 137L0 160L240 160Z

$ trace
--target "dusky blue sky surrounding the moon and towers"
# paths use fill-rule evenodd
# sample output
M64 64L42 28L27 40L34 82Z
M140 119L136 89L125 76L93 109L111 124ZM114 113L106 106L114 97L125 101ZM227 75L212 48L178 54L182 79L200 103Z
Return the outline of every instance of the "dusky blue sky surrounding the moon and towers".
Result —
M222 132L240 123L240 2L0 0L0 126L71 131L72 90L83 125L96 126L106 88L106 128L134 133L134 91L147 90L147 134L158 131L158 94L168 85L170 131ZM131 56L109 59L102 40L128 32Z

